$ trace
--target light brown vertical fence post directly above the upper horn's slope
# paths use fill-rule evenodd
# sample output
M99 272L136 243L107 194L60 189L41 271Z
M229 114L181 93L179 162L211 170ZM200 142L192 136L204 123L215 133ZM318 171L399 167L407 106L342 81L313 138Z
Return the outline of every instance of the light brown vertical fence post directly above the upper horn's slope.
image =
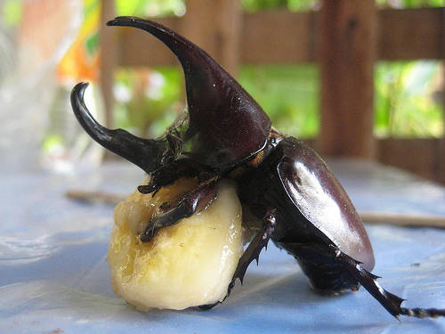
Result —
M239 0L188 0L181 32L236 76L241 18Z

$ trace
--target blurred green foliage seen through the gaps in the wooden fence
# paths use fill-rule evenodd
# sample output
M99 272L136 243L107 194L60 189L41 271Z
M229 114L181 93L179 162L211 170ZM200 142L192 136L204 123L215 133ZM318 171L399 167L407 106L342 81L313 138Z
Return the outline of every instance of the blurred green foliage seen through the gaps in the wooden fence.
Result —
M248 12L286 8L316 9L320 0L240 0ZM444 6L445 0L376 0L380 6L416 8ZM185 11L183 0L117 0L118 15L171 15ZM157 69L158 95L134 93L140 85L135 71L121 71L117 86L131 99L117 103L117 124L149 136L164 132L183 108L182 74L178 68ZM375 133L383 136L441 136L442 103L437 97L441 75L437 61L383 62L375 71ZM138 81L139 80L139 81ZM150 80L149 80L150 81ZM271 117L274 126L299 138L320 131L320 83L316 65L243 66L239 81ZM139 83L138 83L139 82ZM160 92L160 93L159 93Z

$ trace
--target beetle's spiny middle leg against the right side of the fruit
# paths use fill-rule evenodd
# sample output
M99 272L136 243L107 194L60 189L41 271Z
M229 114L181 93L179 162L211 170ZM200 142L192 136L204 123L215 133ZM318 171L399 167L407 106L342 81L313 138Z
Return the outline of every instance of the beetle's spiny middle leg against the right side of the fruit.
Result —
M254 240L249 243L243 255L239 258L237 269L233 274L231 283L229 284L229 287L227 289L227 295L226 297L224 297L223 301L225 300L225 298L230 296L231 289L233 289L233 287L235 286L235 282L237 281L237 279L239 279L241 284L243 283L244 275L247 271L248 265L250 265L250 263L254 260L256 260L256 264L258 264L258 258L260 257L262 249L267 248L267 243L271 239L271 235L275 230L276 219L273 210L268 210L266 215L263 217L263 220L263 230L255 235ZM199 305L198 308L201 310L208 310L214 307L214 305L218 305L220 303L223 302L218 301L214 304Z

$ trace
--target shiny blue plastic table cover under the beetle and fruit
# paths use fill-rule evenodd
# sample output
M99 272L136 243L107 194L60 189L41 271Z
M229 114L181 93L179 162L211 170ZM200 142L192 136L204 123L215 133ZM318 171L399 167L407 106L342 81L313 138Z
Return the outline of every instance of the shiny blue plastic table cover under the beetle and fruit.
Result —
M445 215L445 189L390 167L332 161L358 209ZM142 313L118 298L106 262L112 209L69 189L129 193L140 170L109 163L74 175L0 167L0 333L444 333L445 319L395 320L365 289L321 297L270 243L223 305ZM368 225L373 273L404 305L445 307L445 231Z

